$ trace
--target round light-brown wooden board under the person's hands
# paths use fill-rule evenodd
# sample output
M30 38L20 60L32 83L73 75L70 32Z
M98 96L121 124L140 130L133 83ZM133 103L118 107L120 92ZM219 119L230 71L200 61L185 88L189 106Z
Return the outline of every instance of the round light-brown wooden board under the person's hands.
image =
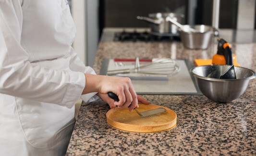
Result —
M165 108L166 112L141 117L135 110L130 112L128 108L112 108L106 114L107 122L110 126L127 132L161 132L176 127L177 115L169 108L139 104L136 109L142 112L155 108Z

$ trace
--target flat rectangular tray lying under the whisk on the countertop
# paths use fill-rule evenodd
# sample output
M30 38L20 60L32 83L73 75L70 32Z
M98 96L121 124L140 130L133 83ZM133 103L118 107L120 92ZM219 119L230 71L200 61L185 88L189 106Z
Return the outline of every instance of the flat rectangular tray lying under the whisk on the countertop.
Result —
M100 75L107 75L109 62L112 59L104 59ZM177 60L180 65L180 72L171 76L168 81L157 80L132 80L135 91L141 95L202 95L195 78L189 73L192 64L189 60Z

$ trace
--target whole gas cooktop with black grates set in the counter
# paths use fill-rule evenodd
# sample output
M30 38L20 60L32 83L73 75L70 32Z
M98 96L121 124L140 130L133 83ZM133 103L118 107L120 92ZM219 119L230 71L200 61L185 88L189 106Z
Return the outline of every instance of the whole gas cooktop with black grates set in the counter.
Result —
M149 28L105 28L101 42L173 42L180 36L152 33Z

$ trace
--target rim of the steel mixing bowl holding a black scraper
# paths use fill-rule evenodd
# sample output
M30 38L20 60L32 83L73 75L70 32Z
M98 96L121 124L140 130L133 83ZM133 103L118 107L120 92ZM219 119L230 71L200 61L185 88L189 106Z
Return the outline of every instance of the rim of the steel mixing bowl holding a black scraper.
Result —
M204 66L230 66L230 65L204 65ZM254 74L252 76L249 76L249 77L245 77L245 78L242 78L242 79L217 79L217 78L209 78L209 77L204 77L204 76L200 76L200 75L197 75L193 72L193 70L195 68L199 68L199 67L204 67L204 66L196 66L196 67L193 67L189 70L189 72L197 77L197 78L200 78L200 79L204 79L204 80L209 80L209 81L219 81L219 82L231 82L231 81L245 81L245 80L251 80L251 79L254 79L256 77L256 72L254 72L253 70L251 69L248 69L248 68L244 68L244 67L238 67L238 68L244 68L246 70L249 70L251 72L253 72Z

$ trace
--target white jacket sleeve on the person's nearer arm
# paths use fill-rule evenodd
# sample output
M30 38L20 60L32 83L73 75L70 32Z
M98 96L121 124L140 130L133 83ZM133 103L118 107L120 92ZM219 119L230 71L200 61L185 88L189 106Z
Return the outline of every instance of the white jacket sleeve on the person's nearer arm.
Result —
M21 46L22 18L20 0L0 0L0 93L72 108L84 73L30 63Z

